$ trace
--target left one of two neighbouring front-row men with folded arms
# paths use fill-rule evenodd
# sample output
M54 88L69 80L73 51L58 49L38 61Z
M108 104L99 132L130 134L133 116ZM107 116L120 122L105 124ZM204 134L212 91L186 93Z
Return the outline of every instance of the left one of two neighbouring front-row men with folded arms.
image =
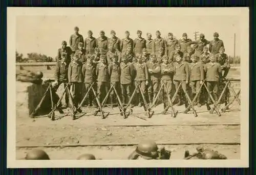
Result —
M157 62L156 56L152 55L151 60L146 62L150 79L148 81L148 101L150 104L153 103L158 92L159 79L160 79L160 64Z

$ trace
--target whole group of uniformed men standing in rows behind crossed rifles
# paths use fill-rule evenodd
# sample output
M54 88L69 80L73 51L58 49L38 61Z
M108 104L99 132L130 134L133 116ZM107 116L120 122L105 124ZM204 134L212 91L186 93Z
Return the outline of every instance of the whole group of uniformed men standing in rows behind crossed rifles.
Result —
M183 33L180 40L168 33L165 40L160 31L156 31L155 39L152 39L150 33L144 39L141 37L142 32L138 30L138 37L133 40L129 31L125 31L124 39L119 39L113 30L111 38L106 37L104 31L100 31L99 38L94 38L89 30L88 37L83 40L78 27L74 31L70 37L70 46L62 41L62 47L58 49L54 87L57 90L62 83L65 87L69 86L76 107L91 86L102 102L103 95L109 92L111 85L121 95L122 104L129 102L137 85L142 92L136 89L138 99L131 106L142 106L143 96L148 104L152 104L161 84L166 86L169 96L181 84L183 91L178 92L176 104L180 106L184 103L186 108L188 101L184 92L188 92L191 87L189 95L191 98L197 96L196 103L201 107L200 86L206 81L209 93L216 101L219 84L230 68L218 33L214 33L212 41L206 40L204 34L200 34L199 40L192 41L186 33ZM68 93L65 97L66 107L69 106L67 95ZM88 95L84 105L92 106L95 99L93 95ZM207 98L206 106L210 110L211 100L209 96ZM115 104L115 101L113 90L110 103ZM166 107L167 99L163 99L163 103ZM81 109L77 110L81 112Z

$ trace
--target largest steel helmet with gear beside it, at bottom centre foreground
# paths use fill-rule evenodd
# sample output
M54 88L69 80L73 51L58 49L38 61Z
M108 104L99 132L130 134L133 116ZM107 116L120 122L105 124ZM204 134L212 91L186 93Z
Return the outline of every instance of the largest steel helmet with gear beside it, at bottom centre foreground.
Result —
M156 142L152 140L143 140L141 141L135 151L133 151L128 159L129 160L161 160L161 159L170 159L170 151L165 150L164 147L158 147Z

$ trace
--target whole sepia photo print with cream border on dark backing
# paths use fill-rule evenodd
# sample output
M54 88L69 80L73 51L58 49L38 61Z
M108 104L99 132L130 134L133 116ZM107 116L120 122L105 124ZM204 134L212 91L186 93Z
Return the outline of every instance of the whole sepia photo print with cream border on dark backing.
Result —
M248 166L248 8L7 12L8 167Z

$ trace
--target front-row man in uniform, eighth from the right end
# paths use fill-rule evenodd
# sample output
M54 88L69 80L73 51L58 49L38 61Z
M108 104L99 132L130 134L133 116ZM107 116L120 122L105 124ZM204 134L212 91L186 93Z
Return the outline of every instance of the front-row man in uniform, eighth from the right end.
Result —
M109 64L109 76L110 76L110 82L111 84L114 84L115 89L117 90L117 93L119 93L120 88L120 74L121 69L120 65L118 63L118 57L116 55L113 56L113 61ZM119 96L119 94L118 94ZM115 91L112 90L110 93L110 103L114 104L115 101ZM115 105L112 105L112 107L115 107Z

